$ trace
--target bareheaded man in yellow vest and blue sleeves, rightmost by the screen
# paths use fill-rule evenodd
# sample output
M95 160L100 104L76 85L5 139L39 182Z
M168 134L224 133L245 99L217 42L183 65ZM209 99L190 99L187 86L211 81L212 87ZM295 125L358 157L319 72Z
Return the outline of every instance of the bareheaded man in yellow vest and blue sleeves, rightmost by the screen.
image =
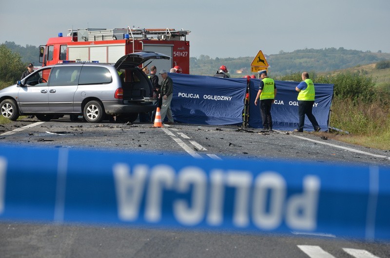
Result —
M294 132L303 132L303 127L305 125L305 114L308 116L314 131L318 132L321 130L317 120L312 114L312 109L314 105L315 90L314 83L312 79L309 78L309 73L302 73L302 81L295 87L295 91L298 93L298 116L299 123L298 128L294 129Z

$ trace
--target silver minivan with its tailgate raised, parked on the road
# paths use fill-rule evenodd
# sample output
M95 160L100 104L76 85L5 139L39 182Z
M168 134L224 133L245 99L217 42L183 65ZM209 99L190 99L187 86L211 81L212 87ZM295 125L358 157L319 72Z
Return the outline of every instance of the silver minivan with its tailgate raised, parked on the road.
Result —
M124 55L116 64L68 62L45 66L0 91L1 115L17 120L35 115L41 121L69 114L98 123L106 115L137 119L156 109L152 83L138 67L150 59L170 59L155 52Z

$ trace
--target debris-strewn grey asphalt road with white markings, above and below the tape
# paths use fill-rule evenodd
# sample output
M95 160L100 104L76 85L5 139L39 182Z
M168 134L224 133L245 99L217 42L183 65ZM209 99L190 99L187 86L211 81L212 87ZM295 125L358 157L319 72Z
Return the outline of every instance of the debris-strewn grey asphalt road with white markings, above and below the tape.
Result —
M301 160L309 157L312 162L326 164L390 165L389 151L321 139L326 133L262 132L260 129L184 124L161 129L141 123L70 122L66 116L44 123L25 119L4 125L0 130L0 144L9 146L142 151L156 158L171 153L200 160ZM294 233L246 235L1 221L0 236L0 257L290 258L309 257L310 252L314 253L310 257L390 257L389 242ZM320 256L323 253L325 256Z

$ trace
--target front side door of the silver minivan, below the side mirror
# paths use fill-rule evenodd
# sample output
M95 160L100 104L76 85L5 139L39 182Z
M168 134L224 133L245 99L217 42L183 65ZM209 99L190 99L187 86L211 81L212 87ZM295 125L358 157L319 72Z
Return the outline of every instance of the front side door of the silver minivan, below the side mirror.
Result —
M46 80L42 78L42 73L50 70L51 68L39 69L21 80L18 92L21 112L45 113L49 111L49 87Z

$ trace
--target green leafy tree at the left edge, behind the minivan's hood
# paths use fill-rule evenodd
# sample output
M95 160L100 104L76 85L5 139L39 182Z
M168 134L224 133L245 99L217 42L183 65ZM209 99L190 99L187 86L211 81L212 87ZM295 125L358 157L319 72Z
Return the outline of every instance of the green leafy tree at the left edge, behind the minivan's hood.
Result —
M25 67L19 53L12 52L5 44L0 45L0 80L7 83L16 82Z

